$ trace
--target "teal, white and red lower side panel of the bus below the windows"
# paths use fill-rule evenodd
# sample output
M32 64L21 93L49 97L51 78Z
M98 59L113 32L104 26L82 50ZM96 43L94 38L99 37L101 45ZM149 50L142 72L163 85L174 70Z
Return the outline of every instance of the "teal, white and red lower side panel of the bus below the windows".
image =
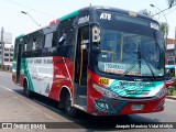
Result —
M59 101L62 87L73 92L73 62L64 57L23 58L20 85L23 86L26 78L30 90Z

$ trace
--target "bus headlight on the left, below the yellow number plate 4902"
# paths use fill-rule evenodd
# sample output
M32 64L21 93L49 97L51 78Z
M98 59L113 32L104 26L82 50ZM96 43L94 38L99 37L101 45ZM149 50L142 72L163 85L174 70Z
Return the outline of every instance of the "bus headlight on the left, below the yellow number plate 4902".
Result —
M92 84L92 87L99 91L101 95L108 97L108 98L118 98L118 95L110 91L110 90L107 90L106 88L101 87L101 86L98 86L96 84Z

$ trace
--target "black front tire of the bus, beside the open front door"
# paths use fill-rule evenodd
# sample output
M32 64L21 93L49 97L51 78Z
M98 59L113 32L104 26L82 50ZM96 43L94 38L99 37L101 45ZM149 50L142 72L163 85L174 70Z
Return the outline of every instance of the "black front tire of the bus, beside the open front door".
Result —
M65 95L64 109L66 114L68 114L69 117L72 118L77 117L77 110L74 107L72 107L72 99L68 92Z

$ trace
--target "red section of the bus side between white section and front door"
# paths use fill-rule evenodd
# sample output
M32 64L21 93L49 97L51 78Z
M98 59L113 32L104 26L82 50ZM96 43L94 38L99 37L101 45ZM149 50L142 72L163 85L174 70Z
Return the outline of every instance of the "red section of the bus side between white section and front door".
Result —
M62 87L66 87L73 95L74 63L65 57L53 57L53 85L50 98L59 101L59 91Z

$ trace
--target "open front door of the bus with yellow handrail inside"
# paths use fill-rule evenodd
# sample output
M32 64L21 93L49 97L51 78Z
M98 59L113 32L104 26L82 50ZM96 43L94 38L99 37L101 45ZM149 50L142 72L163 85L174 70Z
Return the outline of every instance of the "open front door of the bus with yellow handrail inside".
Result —
M87 105L87 73L89 56L89 26L81 26L77 32L77 52L75 63L76 103ZM82 98L82 99L80 99ZM80 101L81 100L81 101ZM84 101L85 100L85 101Z

